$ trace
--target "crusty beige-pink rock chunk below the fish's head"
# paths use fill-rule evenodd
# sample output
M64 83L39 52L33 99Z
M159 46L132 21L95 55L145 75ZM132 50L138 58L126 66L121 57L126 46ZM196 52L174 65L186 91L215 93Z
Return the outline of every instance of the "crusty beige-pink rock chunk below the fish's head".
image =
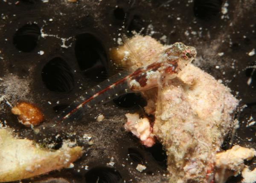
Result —
M170 182L207 182L215 155L234 126L238 101L229 88L192 64L159 97L153 131L166 148Z

